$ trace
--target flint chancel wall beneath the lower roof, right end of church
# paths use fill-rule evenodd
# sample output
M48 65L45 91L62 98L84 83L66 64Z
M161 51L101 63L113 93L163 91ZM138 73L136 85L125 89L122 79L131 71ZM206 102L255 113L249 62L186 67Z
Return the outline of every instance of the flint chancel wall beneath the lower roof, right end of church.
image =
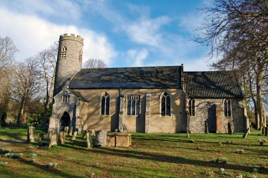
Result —
M221 130L217 132L225 133L228 131L228 122L231 123L233 132L243 132L245 130L245 116L243 113L243 99L231 99L231 117L224 116L224 106L222 99L195 99L195 116L190 116L191 133L204 133L208 122L209 132L216 133L216 105L220 106Z

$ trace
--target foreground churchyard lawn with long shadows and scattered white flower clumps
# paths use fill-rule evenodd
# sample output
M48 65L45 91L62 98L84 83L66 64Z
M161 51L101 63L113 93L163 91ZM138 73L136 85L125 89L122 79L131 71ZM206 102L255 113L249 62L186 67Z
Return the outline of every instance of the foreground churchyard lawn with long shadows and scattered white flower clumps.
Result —
M133 133L129 148L87 149L82 135L49 149L28 149L42 146L41 142L7 145L2 148L23 156L0 157L0 163L8 162L1 167L0 177L267 177L268 142L260 145L258 140L268 137L258 133L252 132L246 139L241 133L191 134L191 138L185 133ZM238 149L244 153L236 153ZM37 154L36 161L27 158L30 153ZM217 158L225 158L227 163L216 163ZM48 167L49 162L58 165Z

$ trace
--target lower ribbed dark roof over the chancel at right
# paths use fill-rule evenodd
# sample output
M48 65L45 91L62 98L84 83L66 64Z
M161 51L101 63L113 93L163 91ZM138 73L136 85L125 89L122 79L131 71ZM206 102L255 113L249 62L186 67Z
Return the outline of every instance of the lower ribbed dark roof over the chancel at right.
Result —
M242 98L234 71L184 72L184 90L196 98Z

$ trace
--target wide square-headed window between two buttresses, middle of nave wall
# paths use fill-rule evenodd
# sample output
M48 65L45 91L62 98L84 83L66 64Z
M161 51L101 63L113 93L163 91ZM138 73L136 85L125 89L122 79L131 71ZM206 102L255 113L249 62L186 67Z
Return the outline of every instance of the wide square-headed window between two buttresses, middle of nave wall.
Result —
M127 115L139 116L140 112L140 95L127 95Z

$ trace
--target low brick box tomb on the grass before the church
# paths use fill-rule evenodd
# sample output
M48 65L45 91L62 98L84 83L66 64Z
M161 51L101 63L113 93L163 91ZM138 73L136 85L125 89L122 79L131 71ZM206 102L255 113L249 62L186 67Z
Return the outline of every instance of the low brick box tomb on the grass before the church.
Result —
M129 147L131 145L131 133L107 132L107 146Z

